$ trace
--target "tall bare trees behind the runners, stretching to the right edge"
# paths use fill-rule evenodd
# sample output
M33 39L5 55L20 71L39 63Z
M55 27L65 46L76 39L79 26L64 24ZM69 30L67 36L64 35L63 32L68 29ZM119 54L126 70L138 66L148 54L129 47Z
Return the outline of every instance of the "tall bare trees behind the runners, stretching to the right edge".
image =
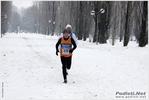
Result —
M114 45L118 38L127 46L135 36L142 47L148 43L147 7L148 1L33 1L32 7L22 10L20 30L59 35L71 24L79 40L90 37L92 42L106 43L111 39ZM104 13L90 14L101 8Z

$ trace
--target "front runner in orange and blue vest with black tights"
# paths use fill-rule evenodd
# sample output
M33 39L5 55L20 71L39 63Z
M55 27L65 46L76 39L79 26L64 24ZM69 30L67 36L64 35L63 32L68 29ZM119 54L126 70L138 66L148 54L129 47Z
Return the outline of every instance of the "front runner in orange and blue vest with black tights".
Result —
M62 63L62 73L64 78L64 83L67 83L67 69L69 70L71 68L71 59L72 59L72 53L76 49L77 45L73 38L69 36L69 31L65 29L63 31L63 37L58 40L56 43L56 55L58 56L58 46L60 47L60 57L61 57L61 63ZM72 48L73 45L73 48Z

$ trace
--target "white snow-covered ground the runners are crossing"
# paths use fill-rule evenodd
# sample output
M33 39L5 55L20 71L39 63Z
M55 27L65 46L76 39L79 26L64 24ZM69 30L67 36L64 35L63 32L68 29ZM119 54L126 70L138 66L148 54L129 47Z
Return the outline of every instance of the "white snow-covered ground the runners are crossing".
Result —
M78 41L64 84L57 39L14 33L0 39L1 98L116 99L116 92L146 92L148 98L148 45Z

